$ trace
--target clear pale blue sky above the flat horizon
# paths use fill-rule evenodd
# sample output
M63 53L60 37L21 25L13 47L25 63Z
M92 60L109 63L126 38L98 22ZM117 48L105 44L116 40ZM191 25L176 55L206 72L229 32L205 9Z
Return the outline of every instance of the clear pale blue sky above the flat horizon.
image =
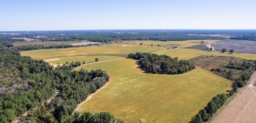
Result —
M1 0L0 31L256 29L256 0Z

